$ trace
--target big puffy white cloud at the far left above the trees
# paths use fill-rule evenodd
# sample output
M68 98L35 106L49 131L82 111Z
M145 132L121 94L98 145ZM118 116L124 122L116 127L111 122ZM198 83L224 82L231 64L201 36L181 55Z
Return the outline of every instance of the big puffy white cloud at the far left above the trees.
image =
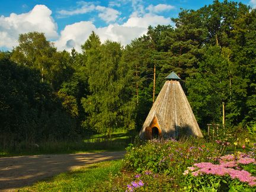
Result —
M36 5L30 12L24 14L12 13L9 17L0 17L0 47L11 49L18 44L21 33L38 31L44 33L47 39L56 39L57 24L50 16L52 11L45 5Z

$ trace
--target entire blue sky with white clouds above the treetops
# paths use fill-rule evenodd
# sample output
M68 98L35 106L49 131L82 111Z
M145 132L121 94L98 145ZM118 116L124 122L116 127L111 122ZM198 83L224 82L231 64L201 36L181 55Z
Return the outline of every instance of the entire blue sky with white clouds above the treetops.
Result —
M192 0L0 0L0 50L17 46L18 34L43 32L59 50L80 46L94 30L101 41L129 44L148 25L171 24L180 8L199 9L213 1ZM240 2L256 6L256 0Z

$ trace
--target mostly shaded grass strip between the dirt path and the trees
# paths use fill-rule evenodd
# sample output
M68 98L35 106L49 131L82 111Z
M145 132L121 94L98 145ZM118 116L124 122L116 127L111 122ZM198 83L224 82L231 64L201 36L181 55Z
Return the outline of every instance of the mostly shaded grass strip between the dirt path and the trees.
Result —
M19 143L15 149L0 149L0 157L21 156L21 155L41 155L41 154L65 154L82 152L105 152L124 151L132 141L127 132L113 133L110 139L103 135L92 135L90 139L82 139L77 142L41 142L37 145L29 143Z

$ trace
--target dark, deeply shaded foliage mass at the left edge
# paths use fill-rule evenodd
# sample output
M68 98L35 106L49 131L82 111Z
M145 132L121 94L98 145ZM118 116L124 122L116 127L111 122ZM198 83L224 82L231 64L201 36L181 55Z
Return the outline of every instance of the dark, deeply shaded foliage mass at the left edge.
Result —
M0 81L2 148L76 137L75 122L36 69L16 65L6 54L0 59Z

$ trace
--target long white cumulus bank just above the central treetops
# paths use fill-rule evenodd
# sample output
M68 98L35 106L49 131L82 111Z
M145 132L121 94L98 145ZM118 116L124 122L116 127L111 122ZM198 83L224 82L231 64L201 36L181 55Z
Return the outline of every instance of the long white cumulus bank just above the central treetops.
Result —
M81 44L94 31L100 37L101 42L112 40L120 42L125 46L133 39L146 34L149 25L156 26L158 24L171 24L171 19L159 15L146 14L143 17L129 18L122 25L110 24L107 27L100 28L95 27L91 21L82 21L67 25L61 32L60 39L55 42L55 45L59 50L71 50L74 47L78 52L81 52ZM71 47L71 45L73 46Z

